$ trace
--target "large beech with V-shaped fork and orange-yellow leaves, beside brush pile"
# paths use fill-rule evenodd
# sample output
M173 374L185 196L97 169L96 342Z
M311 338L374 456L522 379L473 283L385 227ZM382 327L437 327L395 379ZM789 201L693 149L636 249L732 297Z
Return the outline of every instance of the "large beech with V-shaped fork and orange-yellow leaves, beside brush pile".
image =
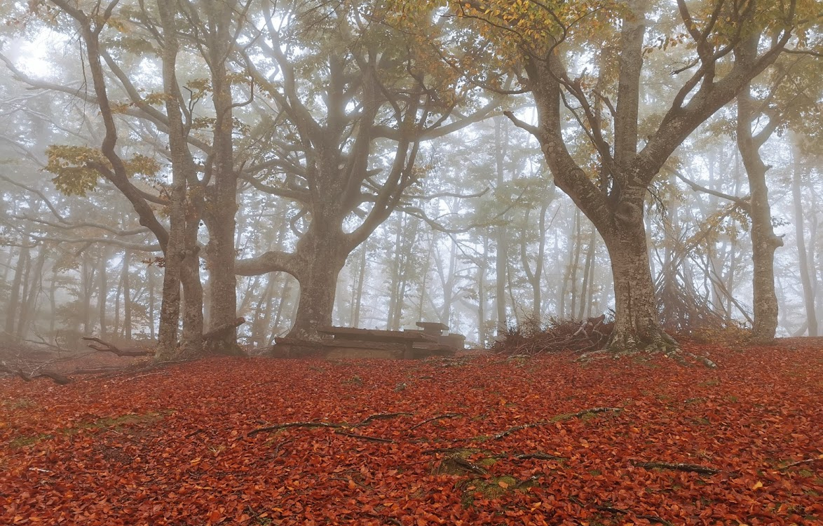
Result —
M507 115L537 137L558 188L607 246L616 303L612 349L677 347L658 323L644 225L649 187L686 137L792 44L805 17L798 10L813 11L812 3L454 2L454 14L495 44L500 67L531 93L536 125ZM686 61L671 68L684 80L665 113L645 115L644 57L683 43ZM610 49L618 59L602 59ZM593 81L592 67L608 69L606 83ZM568 119L588 138L595 165L570 152Z

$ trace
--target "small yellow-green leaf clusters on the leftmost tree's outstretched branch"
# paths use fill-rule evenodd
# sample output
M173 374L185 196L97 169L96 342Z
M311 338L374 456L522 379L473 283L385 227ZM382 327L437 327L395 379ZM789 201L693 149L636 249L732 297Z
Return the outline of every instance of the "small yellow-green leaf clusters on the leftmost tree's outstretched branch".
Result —
M85 196L95 189L97 179L103 171L112 170L111 163L103 153L91 147L51 145L46 148L48 163L45 170L54 174L52 182L59 192L65 195ZM142 174L156 175L160 164L140 154L123 161L128 177Z

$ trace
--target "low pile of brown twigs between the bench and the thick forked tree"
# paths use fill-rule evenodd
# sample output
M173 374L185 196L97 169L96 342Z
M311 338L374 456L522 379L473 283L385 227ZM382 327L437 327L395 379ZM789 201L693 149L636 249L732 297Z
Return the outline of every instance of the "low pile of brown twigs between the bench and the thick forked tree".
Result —
M559 351L597 351L606 347L614 324L606 315L579 320L550 319L541 324L527 319L518 327L509 327L491 347L500 354L537 356Z

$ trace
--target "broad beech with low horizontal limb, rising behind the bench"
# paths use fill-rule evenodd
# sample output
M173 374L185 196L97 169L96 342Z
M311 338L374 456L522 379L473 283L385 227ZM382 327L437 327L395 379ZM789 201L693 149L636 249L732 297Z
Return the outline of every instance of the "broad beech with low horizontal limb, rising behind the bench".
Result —
M455 86L459 75L423 44L439 28L421 16L416 27L425 36L392 29L387 7L284 2L273 11L264 2L263 29L240 51L261 96L277 109L261 124L267 141L241 178L299 208L291 217L294 249L242 258L235 272L296 278L300 304L290 337L316 337L319 325L331 323L346 258L425 175L416 167L422 142L495 107L462 114L469 93Z

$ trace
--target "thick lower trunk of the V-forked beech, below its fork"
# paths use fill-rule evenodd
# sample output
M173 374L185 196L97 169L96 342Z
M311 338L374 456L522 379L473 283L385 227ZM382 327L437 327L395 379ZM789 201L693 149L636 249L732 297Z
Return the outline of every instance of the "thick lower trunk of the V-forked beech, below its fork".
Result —
M649 250L642 218L601 236L611 257L615 288L612 351L677 347L658 324L658 307L649 269Z

